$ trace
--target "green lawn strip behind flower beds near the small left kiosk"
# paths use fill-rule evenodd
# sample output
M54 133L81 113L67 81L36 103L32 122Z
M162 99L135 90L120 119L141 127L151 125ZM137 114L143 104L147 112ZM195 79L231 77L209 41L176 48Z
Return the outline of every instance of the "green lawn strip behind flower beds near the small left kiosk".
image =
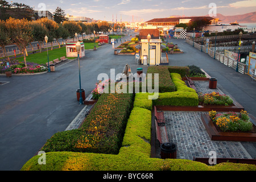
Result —
M85 43L85 49L93 49L94 43ZM98 44L96 43L96 47ZM49 61L55 60L60 57L67 57L65 47L48 49ZM76 57L67 57L68 59L75 59ZM17 57L16 60L24 61L24 57ZM26 57L26 61L30 63L46 64L47 63L47 51L41 53L34 53Z

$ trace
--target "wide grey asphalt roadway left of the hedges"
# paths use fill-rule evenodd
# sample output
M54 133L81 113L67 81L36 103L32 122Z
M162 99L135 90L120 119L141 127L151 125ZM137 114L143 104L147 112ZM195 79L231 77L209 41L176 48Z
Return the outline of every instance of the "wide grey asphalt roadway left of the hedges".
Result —
M127 38L130 35L123 39ZM85 50L85 57L80 59L85 95L92 92L100 73L110 78L110 69L115 69L115 74L121 73L126 64L133 73L143 67L135 63L135 56L114 55L111 44L97 51ZM144 66L143 71L146 70ZM9 81L0 85L0 170L20 170L47 139L64 131L84 107L76 100L79 64L74 60L56 67L55 72L0 76L0 81Z

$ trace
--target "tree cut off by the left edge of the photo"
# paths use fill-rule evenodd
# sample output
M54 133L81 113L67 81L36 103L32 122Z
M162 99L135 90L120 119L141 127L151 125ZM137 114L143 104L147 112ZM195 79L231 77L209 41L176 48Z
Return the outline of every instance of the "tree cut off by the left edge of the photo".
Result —
M5 49L5 46L7 46L9 43L11 43L11 38L10 38L10 34L9 31L7 30L6 27L6 23L3 20L0 20L0 47L2 47L3 49L3 54L7 56L7 52ZM8 60L10 60L10 58L8 57Z

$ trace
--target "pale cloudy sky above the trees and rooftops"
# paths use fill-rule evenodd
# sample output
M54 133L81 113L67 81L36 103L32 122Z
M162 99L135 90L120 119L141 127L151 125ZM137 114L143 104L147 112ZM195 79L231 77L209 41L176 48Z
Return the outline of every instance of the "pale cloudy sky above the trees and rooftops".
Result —
M7 2L11 2L8 1ZM53 13L57 7L65 14L85 16L95 20L120 22L147 21L172 15L204 16L208 14L240 15L256 10L256 0L26 0L35 10Z

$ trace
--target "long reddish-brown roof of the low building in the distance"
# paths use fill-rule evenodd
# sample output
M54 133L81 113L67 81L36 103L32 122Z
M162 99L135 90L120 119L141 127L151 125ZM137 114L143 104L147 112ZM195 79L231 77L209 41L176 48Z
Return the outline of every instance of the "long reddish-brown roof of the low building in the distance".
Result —
M154 18L151 20L148 20L146 23L158 23L158 22L179 22L180 19L191 19L189 22L193 22L195 20L201 20L201 19L209 19L212 20L214 18L210 16L191 16L191 17L175 17L175 18Z

